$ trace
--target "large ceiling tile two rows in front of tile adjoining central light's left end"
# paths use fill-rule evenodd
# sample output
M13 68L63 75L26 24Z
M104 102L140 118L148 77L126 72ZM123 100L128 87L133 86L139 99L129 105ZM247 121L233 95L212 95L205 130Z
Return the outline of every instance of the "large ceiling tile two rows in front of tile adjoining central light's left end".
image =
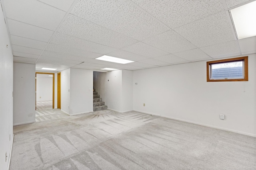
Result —
M90 21L83 20L72 14L69 14L58 31L66 35L71 35L117 49L138 42L135 39L126 37Z

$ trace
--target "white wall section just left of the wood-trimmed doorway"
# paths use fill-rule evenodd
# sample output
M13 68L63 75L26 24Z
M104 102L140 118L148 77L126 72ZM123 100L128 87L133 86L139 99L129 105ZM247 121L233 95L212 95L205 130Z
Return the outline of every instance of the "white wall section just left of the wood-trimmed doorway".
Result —
M13 65L13 124L35 122L36 115L36 65Z

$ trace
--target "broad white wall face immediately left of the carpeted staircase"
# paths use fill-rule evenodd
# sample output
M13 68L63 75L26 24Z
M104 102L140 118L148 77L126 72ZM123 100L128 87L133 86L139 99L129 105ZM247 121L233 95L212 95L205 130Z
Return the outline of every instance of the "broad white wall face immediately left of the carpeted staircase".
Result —
M70 68L70 115L93 111L93 71Z

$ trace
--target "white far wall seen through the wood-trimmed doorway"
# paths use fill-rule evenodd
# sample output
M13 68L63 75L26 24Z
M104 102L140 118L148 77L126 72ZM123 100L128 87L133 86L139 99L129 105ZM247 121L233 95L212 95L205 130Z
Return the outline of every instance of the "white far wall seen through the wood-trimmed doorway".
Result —
M48 76L49 74L47 74ZM41 98L40 98L41 97ZM52 77L36 77L36 101L52 100Z

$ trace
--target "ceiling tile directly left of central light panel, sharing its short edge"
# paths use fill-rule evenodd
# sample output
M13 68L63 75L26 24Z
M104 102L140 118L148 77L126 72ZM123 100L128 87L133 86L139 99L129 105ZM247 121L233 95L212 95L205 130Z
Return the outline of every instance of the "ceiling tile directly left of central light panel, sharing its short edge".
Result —
M76 56L86 57L86 58L91 58L91 59L95 59L97 57L102 56L102 54L91 53L88 51L63 47L63 46L55 45L55 44L48 44L45 50L53 51L56 53L62 53L62 54L66 54L66 55L76 55Z

